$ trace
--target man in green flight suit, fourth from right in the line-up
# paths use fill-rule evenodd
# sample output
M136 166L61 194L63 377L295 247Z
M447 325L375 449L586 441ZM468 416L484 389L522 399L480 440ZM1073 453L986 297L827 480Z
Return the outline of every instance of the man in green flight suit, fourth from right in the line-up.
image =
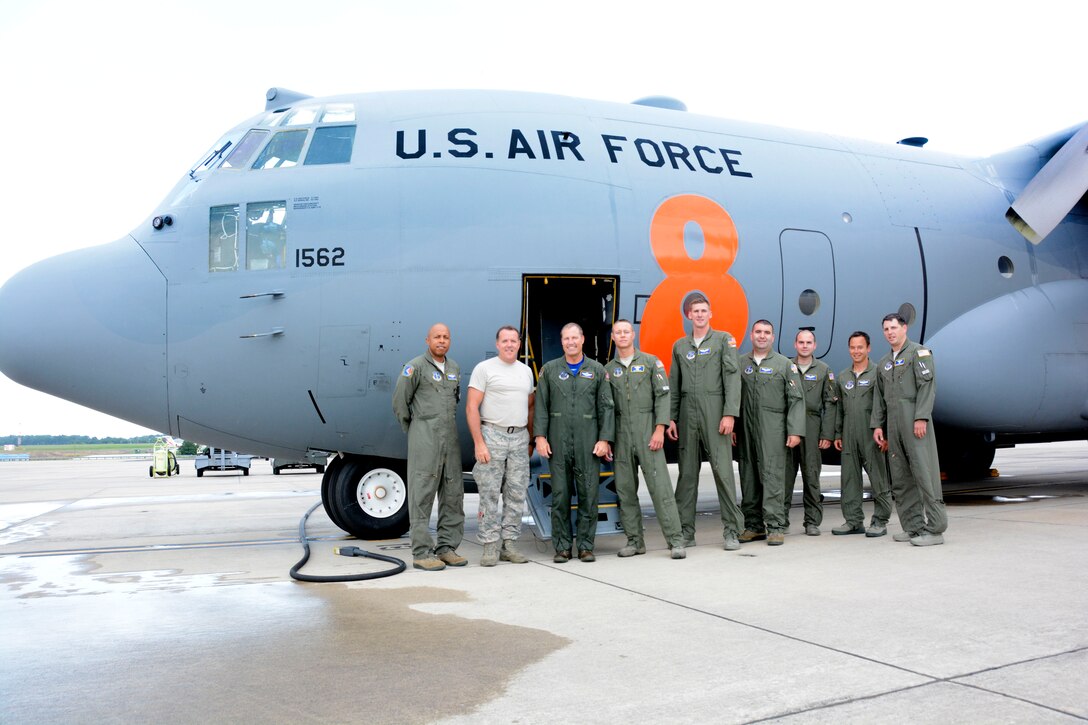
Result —
M796 366L772 348L775 325L757 320L751 339L752 352L740 359L740 540L766 538L768 545L780 546L786 542L787 462L805 433L805 405Z

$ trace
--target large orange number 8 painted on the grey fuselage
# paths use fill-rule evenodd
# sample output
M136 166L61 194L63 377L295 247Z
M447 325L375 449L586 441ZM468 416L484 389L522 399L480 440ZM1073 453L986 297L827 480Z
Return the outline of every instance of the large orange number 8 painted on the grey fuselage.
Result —
M683 244L683 230L694 222L703 230L703 256L692 259ZM741 343L747 328L747 297L740 282L726 272L737 258L737 226L729 212L703 196L684 194L666 199L650 222L650 247L665 279L654 287L642 312L642 349L656 355L666 367L672 343L684 336L683 299L702 292L714 310L713 327L727 330Z

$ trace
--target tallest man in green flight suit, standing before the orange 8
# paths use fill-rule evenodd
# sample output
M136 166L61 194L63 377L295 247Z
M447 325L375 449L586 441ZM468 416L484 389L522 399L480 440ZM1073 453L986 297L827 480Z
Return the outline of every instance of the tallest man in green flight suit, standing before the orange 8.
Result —
M672 345L669 388L672 393L668 437L680 445L677 511L684 546L695 545L695 501L698 497L700 448L706 452L718 491L721 536L726 551L741 548L741 511L733 477L733 423L741 408L737 341L710 329L710 303L701 294L685 303L691 334ZM784 470L784 464L783 464Z

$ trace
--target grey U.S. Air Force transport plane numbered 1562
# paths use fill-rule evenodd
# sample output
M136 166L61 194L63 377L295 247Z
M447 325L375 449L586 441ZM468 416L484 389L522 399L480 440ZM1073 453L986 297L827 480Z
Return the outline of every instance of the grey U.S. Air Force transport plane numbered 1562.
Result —
M981 159L924 143L664 97L273 88L129 235L0 290L0 369L187 440L339 452L322 496L362 538L407 528L390 397L435 321L466 372L507 323L535 368L570 320L604 360L619 317L667 360L697 290L741 341L814 328L838 370L898 310L940 368L944 468L1085 438L1088 125Z

